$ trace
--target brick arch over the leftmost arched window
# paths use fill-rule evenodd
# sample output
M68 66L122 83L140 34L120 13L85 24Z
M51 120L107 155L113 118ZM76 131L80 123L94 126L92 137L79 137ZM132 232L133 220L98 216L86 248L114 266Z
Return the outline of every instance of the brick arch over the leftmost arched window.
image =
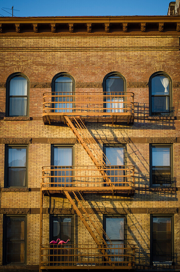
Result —
M6 82L8 76L10 76L13 73L22 73L29 78L30 82L37 82L37 76L33 72L33 70L23 65L14 65L5 69L0 75L0 81Z

